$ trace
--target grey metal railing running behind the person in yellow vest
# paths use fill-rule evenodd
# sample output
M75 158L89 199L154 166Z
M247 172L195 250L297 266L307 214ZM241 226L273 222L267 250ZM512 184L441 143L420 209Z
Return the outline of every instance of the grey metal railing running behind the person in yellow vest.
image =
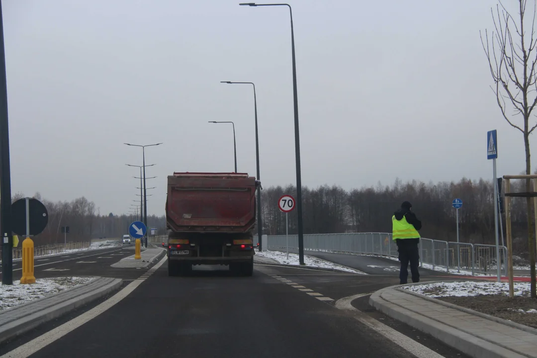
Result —
M285 235L267 237L269 249L286 249ZM289 235L289 249L298 250L298 235ZM397 245L391 233L353 232L304 235L304 251L335 252L356 255L379 255L398 258ZM507 248L500 246L501 271L507 275L504 264ZM436 271L461 272L468 275L496 275L496 246L453 243L422 238L419 240L420 267ZM454 270L454 271L453 271Z

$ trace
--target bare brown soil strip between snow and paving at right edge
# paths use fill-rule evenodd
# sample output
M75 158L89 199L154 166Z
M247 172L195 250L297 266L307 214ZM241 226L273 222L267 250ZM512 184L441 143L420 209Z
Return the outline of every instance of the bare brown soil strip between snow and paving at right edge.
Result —
M498 318L537 328L537 312L523 313L517 310L537 310L537 299L515 296L509 298L500 295L481 295L473 297L436 297L442 301L466 307L474 311L487 313Z

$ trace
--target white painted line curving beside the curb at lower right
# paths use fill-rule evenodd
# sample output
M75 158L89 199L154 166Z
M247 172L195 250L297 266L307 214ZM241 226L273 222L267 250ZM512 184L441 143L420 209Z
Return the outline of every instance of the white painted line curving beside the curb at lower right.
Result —
M424 345L416 342L412 338L407 337L403 333L400 333L394 330L393 328L383 323L380 323L378 320L374 319L373 317L366 315L364 312L354 308L354 306L351 304L351 302L354 301L354 299L359 298L359 297L369 296L371 294L372 293L359 294L359 295L353 295L353 296L338 299L336 302L336 307L340 310L354 311L355 313L354 318L357 319L358 322L366 325L367 327L371 328L375 332L382 334L384 337L394 342L396 345L402 347L403 349L407 350L407 352L415 355L417 358L444 358L444 356L434 352L434 350L431 350L425 347ZM320 298L320 297L317 297L317 298Z

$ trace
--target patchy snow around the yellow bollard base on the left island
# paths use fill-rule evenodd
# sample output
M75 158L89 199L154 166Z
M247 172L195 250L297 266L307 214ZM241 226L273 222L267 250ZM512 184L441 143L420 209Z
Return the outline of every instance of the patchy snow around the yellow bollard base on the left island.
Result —
M20 284L20 281L13 281L12 285L0 284L0 311L59 293L94 279L96 277L54 277L37 279L31 284Z

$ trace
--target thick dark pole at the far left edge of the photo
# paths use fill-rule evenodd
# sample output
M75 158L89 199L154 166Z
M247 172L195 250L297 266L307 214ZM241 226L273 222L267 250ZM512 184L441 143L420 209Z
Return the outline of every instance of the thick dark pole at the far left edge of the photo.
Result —
M8 84L5 75L4 24L0 1L0 236L2 236L2 284L13 284L13 235L11 233L11 166L9 159Z

